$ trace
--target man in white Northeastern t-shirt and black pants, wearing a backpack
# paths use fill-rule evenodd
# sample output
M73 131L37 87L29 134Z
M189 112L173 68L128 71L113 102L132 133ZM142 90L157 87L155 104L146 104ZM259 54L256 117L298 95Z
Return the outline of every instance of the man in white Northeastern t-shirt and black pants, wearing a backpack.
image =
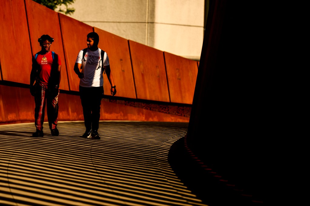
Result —
M100 139L98 128L101 99L104 93L103 70L105 70L111 84L111 94L113 96L116 94L108 55L98 48L98 43L99 35L97 33L87 34L87 51L83 57L83 50L80 50L74 64L74 72L80 78L79 92L86 127L86 131L81 137L88 138L91 136L92 139ZM103 61L101 60L101 52L104 52Z

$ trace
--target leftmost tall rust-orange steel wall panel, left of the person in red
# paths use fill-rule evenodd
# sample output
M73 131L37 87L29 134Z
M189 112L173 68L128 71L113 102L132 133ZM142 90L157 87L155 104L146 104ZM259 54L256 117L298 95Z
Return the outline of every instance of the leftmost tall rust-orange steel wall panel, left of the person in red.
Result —
M1 1L0 80L29 84L31 46L24 0Z

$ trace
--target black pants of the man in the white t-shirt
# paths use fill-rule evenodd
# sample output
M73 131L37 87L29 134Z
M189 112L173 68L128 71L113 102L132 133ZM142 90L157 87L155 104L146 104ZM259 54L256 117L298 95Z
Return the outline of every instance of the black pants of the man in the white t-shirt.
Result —
M86 130L98 131L103 87L79 86L79 91Z

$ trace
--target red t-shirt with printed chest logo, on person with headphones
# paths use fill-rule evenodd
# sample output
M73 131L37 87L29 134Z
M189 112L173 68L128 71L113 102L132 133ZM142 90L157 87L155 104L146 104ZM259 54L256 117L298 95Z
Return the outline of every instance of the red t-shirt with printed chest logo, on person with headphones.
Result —
M35 61L39 65L38 74L40 82L44 85L48 85L48 81L51 77L51 70L53 64L52 51L48 52L47 55L38 54L37 59ZM60 57L56 53L54 55L54 61L57 61L56 65L61 65ZM54 69L58 69L58 67L55 67Z

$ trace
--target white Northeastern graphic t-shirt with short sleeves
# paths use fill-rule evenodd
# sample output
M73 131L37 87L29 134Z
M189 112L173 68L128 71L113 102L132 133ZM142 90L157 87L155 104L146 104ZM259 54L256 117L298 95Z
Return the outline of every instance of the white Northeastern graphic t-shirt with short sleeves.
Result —
M96 51L91 51L87 49L85 53L85 61L83 59L83 50L78 54L75 63L82 64L82 71L84 73L84 78L80 79L80 86L83 87L98 87L103 86L103 70L101 61L101 49L98 48ZM109 58L106 52L104 52L103 65L108 66Z

